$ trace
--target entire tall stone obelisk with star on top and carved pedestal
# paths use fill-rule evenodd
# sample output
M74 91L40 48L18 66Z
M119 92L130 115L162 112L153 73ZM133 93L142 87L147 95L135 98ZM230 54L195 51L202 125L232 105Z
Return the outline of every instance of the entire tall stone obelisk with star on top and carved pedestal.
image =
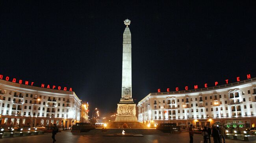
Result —
M117 104L116 122L137 122L136 104L132 99L132 36L128 25L131 21L126 19L126 28L123 34L122 51L122 97Z

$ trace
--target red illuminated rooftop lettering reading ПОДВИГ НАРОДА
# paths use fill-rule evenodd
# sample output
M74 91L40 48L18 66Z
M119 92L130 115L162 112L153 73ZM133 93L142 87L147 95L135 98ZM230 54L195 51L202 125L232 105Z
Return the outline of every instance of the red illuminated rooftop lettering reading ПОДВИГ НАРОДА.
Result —
M31 85L31 86L34 86L34 82L29 82L29 81L22 81L22 80L16 80L16 78L13 78L13 80L10 80L10 78L9 78L9 76L6 76L5 78L4 78L4 76L2 75L2 74L0 74L0 79L1 80L6 80L6 81L11 81L11 82L14 82L14 83L19 83L19 84L25 84L25 85ZM16 82L17 81L17 82ZM58 90L63 90L63 91L67 91L67 87L63 87L63 88L61 88L60 86L58 86L58 87L56 87L55 85L52 85L52 86L50 86L50 85L47 85L47 86L45 86L45 84L41 84L41 87L42 88L47 88L47 89L58 89ZM72 91L72 88L69 88L69 91Z

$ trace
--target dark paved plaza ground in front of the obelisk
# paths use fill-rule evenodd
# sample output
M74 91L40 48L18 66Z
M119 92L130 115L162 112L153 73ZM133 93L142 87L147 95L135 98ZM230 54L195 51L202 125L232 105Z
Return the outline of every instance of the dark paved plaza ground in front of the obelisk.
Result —
M152 134L150 134L152 132ZM155 129L146 132L144 137L113 137L104 136L104 133L95 129L90 132L82 132L72 134L71 132L59 132L56 135L56 143L189 143L188 132L180 134L160 133ZM15 138L0 139L0 143L51 143L52 134L44 134L37 136L24 136ZM202 135L194 134L194 143L202 141ZM212 140L212 139L211 139ZM211 141L213 143L213 140ZM248 143L247 141L239 141L234 139L226 139L226 143ZM256 141L252 142L256 143Z

